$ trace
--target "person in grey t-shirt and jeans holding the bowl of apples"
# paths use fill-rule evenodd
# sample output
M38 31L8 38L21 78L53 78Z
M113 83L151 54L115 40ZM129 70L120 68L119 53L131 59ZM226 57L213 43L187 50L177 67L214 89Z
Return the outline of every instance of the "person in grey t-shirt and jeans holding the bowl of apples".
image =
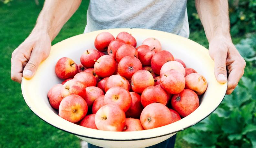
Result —
M40 62L48 57L51 41L80 3L81 0L45 1L34 29L12 53L12 80L20 83L22 76L26 79L33 77ZM196 0L195 4L209 42L209 55L215 62L215 77L219 83L228 81L226 94L231 94L244 73L245 60L232 43L229 33L228 0ZM186 5L187 0L91 0L85 32L147 28L188 38ZM173 147L174 142L175 136L162 144Z

